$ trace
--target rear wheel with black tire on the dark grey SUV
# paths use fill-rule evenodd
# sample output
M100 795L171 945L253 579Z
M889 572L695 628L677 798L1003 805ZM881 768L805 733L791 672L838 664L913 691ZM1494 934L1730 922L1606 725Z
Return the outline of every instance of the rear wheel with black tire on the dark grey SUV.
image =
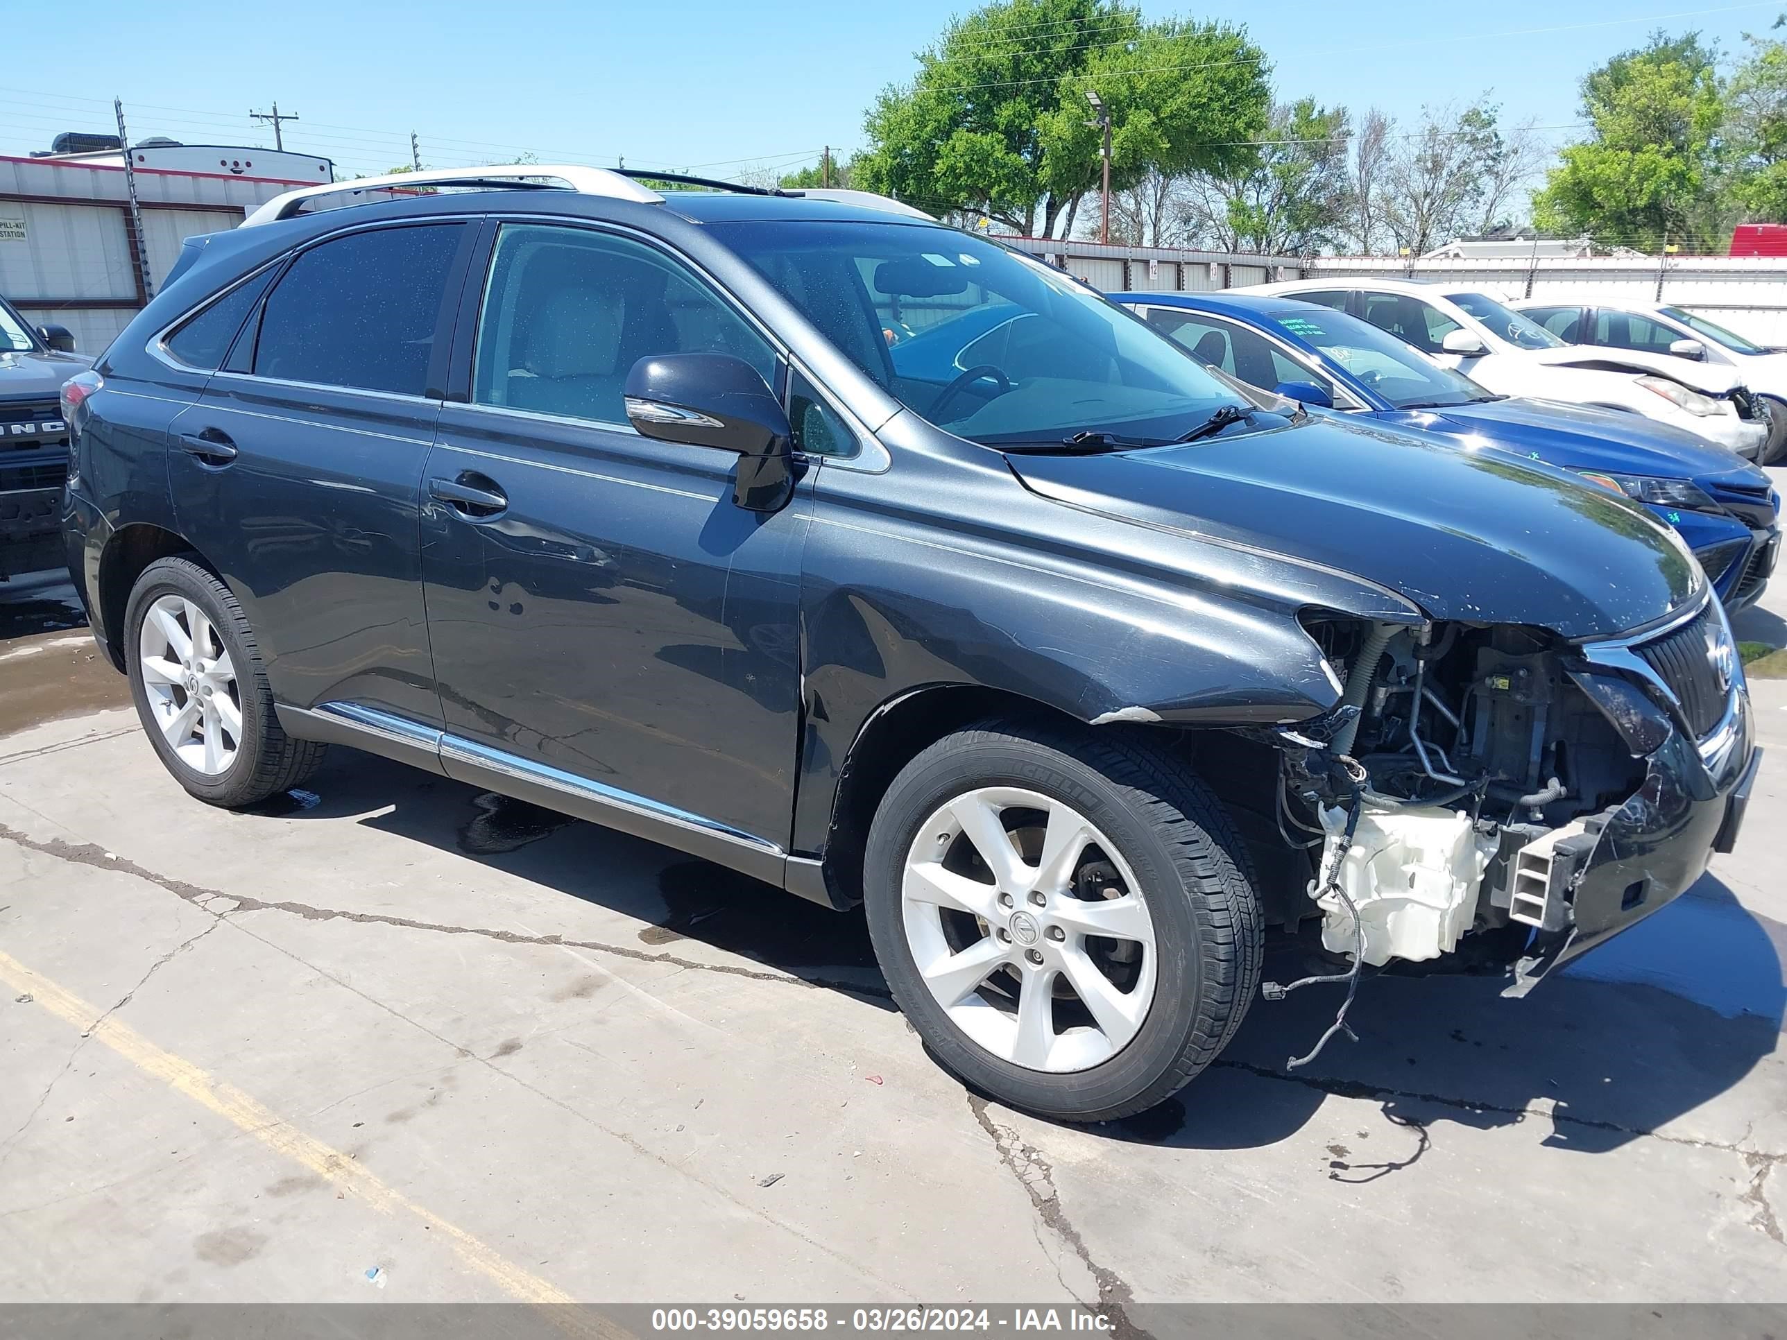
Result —
M123 654L148 743L206 804L257 804L322 763L325 745L279 727L254 631L229 586L198 563L166 557L143 570L125 606Z

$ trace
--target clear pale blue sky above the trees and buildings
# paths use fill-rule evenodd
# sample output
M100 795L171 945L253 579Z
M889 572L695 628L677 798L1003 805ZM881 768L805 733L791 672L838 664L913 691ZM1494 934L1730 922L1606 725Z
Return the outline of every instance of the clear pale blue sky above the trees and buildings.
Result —
M1514 121L1567 127L1576 82L1653 27L1698 29L1726 52L1764 32L1787 0L1380 0L1172 5L1244 23L1272 57L1281 96L1313 95L1397 118L1494 89ZM300 121L288 147L348 172L409 157L431 164L513 157L693 168L813 161L861 141L863 109L913 70L913 52L972 7L963 0L817 5L758 0L652 4L377 4L309 0L279 9L184 0L155 9L95 0L70 11L14 4L0 16L0 154L46 148L63 129L105 130L120 95L134 138L272 143L248 121L277 98ZM1564 143L1569 129L1548 129Z

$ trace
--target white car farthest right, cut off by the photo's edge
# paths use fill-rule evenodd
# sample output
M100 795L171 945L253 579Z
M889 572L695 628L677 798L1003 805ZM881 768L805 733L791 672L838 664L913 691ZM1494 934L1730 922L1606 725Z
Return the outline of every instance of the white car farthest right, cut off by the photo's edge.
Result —
M1567 345L1640 350L1735 370L1744 389L1767 402L1769 440L1758 459L1764 465L1787 461L1787 354L1669 302L1524 298L1508 306Z

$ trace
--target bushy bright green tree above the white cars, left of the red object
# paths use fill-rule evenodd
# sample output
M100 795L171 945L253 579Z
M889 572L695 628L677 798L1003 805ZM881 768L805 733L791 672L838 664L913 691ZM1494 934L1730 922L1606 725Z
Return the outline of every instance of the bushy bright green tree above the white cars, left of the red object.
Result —
M1698 32L1651 34L1581 80L1589 138L1562 150L1533 220L1644 250L1723 225L1717 52Z

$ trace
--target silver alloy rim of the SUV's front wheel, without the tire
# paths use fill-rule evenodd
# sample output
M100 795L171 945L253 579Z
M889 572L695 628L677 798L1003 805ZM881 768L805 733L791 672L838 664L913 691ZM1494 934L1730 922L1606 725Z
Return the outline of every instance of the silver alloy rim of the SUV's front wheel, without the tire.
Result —
M924 984L1004 1061L1086 1070L1147 1018L1147 900L1110 840L1061 800L1013 786L954 797L919 827L901 904Z

